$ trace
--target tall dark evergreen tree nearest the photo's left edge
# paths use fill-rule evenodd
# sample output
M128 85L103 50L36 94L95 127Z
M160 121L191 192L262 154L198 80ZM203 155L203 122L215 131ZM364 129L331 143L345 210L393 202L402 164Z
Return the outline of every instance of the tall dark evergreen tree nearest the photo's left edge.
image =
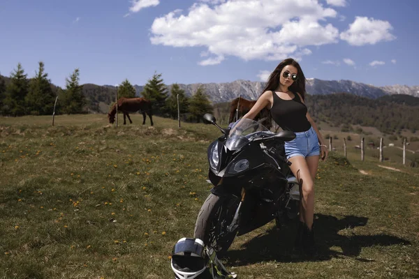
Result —
M22 64L17 64L17 69L10 74L10 84L7 86L6 98L3 102L4 112L14 116L23 115L25 112L24 98L28 93L27 75L24 74Z

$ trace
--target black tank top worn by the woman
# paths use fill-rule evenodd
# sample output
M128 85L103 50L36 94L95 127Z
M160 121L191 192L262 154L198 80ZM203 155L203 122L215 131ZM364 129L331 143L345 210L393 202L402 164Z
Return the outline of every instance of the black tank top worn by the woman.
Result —
M300 96L294 93L292 100L279 98L277 93L272 91L274 104L270 110L272 119L282 128L282 130L291 130L294 133L305 132L311 128L307 120L307 107L304 105Z

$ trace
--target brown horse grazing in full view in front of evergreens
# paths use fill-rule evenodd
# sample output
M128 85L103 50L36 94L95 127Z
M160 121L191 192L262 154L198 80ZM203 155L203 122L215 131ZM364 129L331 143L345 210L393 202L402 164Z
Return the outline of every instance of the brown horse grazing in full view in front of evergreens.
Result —
M146 100L145 98L119 98L118 100L118 112L124 113L124 125L126 124L125 116L128 116L129 123L133 123L129 117L128 112L138 112L142 113L142 125L145 124L145 114L147 113L150 122L153 126L153 110L152 102ZM115 114L117 113L116 104L113 105L112 110L108 113L109 123L115 122Z

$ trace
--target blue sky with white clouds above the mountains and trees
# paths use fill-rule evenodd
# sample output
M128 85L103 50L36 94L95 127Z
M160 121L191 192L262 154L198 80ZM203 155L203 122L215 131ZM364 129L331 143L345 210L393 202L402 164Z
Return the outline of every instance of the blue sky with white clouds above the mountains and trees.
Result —
M0 73L38 61L54 84L259 81L304 75L419 85L416 0L0 0Z

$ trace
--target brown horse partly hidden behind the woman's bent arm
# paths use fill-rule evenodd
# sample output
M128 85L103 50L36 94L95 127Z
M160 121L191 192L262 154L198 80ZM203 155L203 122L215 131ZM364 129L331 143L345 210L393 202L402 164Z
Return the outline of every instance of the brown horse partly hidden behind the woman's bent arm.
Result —
M235 98L230 103L230 116L228 117L228 123L231 123L237 119L235 119L236 116L236 110L238 110L238 118L243 116L244 114L247 114L251 107L256 104L256 100L247 100L241 97ZM267 108L263 108L260 110L258 115L255 117L255 121L261 121L261 124L265 126L266 128L270 129L272 127L272 120L269 115L269 110Z

